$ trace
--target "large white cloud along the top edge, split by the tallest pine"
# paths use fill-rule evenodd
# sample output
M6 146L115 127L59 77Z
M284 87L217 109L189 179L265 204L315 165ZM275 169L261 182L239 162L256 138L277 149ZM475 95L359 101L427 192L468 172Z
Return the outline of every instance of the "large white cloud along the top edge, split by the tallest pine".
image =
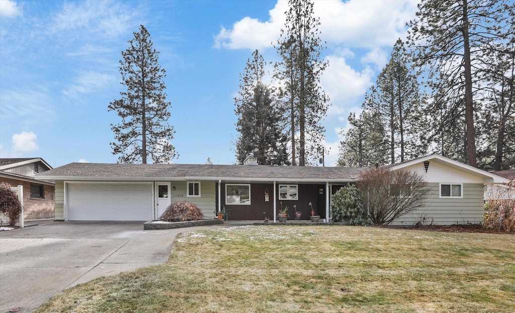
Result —
M320 18L321 39L352 47L391 46L405 37L406 22L414 18L418 1L341 0L316 1L315 16ZM221 27L215 36L216 48L267 48L276 42L284 27L286 1L279 0L262 22L246 16L229 29Z

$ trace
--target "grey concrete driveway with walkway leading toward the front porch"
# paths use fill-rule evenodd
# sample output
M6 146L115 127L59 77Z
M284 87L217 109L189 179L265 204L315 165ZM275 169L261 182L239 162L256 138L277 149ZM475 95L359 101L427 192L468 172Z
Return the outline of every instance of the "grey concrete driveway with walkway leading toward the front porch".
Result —
M143 222L40 222L0 232L0 312L31 312L97 277L165 263L177 234L227 224L144 231Z

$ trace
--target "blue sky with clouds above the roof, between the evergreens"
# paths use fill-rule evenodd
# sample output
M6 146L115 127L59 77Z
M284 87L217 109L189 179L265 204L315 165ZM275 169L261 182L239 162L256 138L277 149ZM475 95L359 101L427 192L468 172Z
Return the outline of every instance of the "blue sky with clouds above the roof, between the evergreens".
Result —
M359 112L386 64L415 1L317 1L321 84L331 97L323 125L326 165L338 153L339 130ZM283 1L16 1L0 0L0 156L114 163L109 143L119 98L121 51L140 24L166 70L174 163L235 162L234 96L254 49L278 60L271 46L284 25Z

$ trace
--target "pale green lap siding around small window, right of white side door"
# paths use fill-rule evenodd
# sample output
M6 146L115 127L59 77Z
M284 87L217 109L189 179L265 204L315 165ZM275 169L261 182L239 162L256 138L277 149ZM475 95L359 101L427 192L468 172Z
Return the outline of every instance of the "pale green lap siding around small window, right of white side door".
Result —
M200 208L204 219L214 218L216 210L216 195L215 195L215 184L214 181L200 181L200 197L187 197L187 183L185 181L173 181L170 182L171 186L175 186L175 190L170 190L171 197L170 202L188 201L194 203ZM174 195L181 195L180 197L174 197Z

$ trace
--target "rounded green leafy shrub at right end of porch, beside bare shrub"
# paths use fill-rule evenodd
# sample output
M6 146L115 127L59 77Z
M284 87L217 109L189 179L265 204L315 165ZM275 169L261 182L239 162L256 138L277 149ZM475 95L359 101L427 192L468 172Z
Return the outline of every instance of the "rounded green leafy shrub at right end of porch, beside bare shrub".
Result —
M351 225L366 224L363 218L363 201L356 185L348 184L331 197L333 221L348 221Z

